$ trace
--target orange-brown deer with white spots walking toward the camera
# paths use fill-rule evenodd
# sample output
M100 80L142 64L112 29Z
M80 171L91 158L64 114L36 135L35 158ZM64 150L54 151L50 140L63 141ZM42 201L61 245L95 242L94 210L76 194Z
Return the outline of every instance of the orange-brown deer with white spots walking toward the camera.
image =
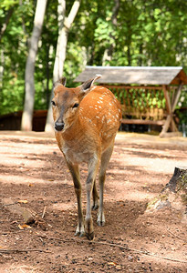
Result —
M91 210L98 209L99 226L105 225L103 190L114 139L121 121L121 106L108 88L94 85L101 75L81 86L66 87L66 77L54 85L51 101L57 146L63 153L72 176L78 202L78 227L75 236L94 238ZM84 220L79 165L88 164L87 208ZM99 172L99 194L96 177ZM93 203L91 204L91 197Z

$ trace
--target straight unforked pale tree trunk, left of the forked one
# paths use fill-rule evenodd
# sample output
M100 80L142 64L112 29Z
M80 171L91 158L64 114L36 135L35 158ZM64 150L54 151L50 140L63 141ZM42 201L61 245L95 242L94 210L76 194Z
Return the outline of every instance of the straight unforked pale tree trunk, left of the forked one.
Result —
M21 129L23 131L32 131L32 119L35 103L35 62L36 53L38 48L38 40L41 34L42 25L44 22L44 15L46 11L47 0L37 0L36 14L34 19L33 33L30 41L30 48L26 60L26 73L25 73L25 104L22 116Z

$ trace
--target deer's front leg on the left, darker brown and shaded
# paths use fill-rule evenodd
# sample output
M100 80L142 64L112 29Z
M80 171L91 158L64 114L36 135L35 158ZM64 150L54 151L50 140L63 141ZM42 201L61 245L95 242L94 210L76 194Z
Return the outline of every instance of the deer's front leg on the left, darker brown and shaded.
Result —
M84 217L82 213L82 200L81 200L81 184L80 184L80 177L79 177L79 168L78 165L71 165L68 163L68 169L73 177L75 192L78 200L78 227L76 229L75 236L83 237L85 235L85 228L84 228Z

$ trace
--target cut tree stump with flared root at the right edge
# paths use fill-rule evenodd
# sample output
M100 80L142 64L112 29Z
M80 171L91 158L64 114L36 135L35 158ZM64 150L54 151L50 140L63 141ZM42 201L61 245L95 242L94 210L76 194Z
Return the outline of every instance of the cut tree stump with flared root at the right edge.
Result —
M187 167L175 167L171 180L161 190L161 194L149 202L147 211L171 207L181 213L187 222Z

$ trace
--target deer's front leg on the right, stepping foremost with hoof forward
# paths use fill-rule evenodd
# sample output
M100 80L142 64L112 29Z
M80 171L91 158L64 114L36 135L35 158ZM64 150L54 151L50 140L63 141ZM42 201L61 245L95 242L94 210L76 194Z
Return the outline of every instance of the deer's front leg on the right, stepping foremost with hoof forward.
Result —
M99 167L99 160L93 157L88 162L88 178L86 182L87 190L87 213L85 218L85 233L89 240L94 238L93 220L91 217L91 195L93 191L94 181Z

